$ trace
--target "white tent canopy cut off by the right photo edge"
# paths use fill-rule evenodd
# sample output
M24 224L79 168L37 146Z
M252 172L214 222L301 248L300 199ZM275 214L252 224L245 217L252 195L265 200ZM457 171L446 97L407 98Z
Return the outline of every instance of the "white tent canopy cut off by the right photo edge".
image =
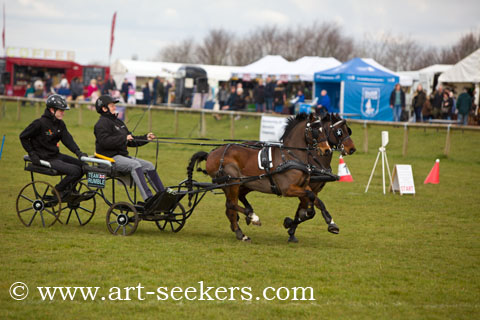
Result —
M459 61L452 68L445 71L438 78L440 82L480 82L480 49L465 59Z

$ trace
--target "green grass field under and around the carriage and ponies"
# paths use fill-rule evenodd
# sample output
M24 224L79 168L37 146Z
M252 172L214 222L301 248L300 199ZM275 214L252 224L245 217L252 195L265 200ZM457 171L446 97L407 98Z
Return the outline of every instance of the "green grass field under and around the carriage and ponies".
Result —
M140 111L129 113L132 128ZM173 114L153 112L154 132L172 135ZM320 194L340 234L327 232L320 214L297 229L297 244L287 243L284 217L293 216L298 201L252 193L249 200L261 227L243 231L242 243L230 231L224 196L207 194L179 233L161 232L141 222L130 237L112 236L105 226L107 207L97 202L93 220L84 227L55 224L24 227L16 215L18 192L29 182L23 171L21 130L35 119L24 107L7 104L0 120L6 143L0 160L0 318L1 319L478 319L480 318L480 151L479 133L454 131L448 158L442 156L445 131L410 129L408 155L402 157L403 128L369 129L368 153L361 152L363 130L352 125L358 151L345 161L353 183L331 183ZM66 113L70 132L81 149L94 152L97 114ZM198 116L182 114L179 136L198 135ZM230 120L207 119L208 137L228 138ZM235 122L235 137L257 139L259 120ZM143 119L137 134L146 132ZM364 193L380 146L380 131L389 130L390 165L411 164L415 196L382 194L380 168ZM62 151L68 153L65 147ZM190 156L209 147L161 145L159 173L167 185L185 178ZM155 161L155 146L139 149ZM332 167L336 172L337 155ZM423 180L440 158L440 184ZM43 177L42 177L43 178ZM205 177L197 176L197 180ZM49 179L46 179L49 180ZM100 200L99 200L100 201ZM10 286L29 287L29 296L13 300ZM123 301L42 301L36 287L250 287L252 299L224 301L159 301L155 296ZM311 287L315 300L256 300L267 287ZM198 292L198 291L197 291ZM271 294L271 293L270 293ZM192 296L192 295L190 295ZM123 296L125 298L125 296Z

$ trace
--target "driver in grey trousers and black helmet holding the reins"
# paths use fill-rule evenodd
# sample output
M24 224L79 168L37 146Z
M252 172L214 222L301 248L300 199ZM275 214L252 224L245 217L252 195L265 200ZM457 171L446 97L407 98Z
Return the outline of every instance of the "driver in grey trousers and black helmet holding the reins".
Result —
M125 123L117 118L116 106L118 100L109 95L99 97L95 103L100 119L95 124L95 150L98 154L113 158L115 168L121 172L130 172L140 194L145 202L153 196L148 188L145 176L156 192L164 190L162 181L149 161L128 155L127 147L140 147L155 139L153 133L143 136L133 136Z

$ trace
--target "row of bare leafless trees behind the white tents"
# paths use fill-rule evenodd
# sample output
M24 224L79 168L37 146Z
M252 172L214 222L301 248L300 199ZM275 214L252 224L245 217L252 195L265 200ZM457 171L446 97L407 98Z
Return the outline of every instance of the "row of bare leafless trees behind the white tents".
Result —
M203 39L185 38L162 48L155 60L179 63L244 66L265 55L281 55L289 61L304 56L373 58L394 71L418 70L432 64L455 64L480 48L480 30L464 34L443 47L424 46L409 36L364 35L355 40L335 22L313 22L281 28L263 26L238 36L228 30L210 29Z

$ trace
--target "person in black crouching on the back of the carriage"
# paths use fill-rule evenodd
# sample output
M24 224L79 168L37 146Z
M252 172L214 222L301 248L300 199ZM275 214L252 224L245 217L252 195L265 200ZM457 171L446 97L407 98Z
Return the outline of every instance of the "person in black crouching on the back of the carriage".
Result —
M23 130L20 141L33 164L41 165L40 160L46 160L50 162L52 169L65 175L55 186L63 200L83 175L83 162L79 159L88 155L80 151L63 122L65 110L70 109L65 99L58 94L53 94L47 98L46 104L45 113ZM76 154L78 159L60 153L59 141Z

